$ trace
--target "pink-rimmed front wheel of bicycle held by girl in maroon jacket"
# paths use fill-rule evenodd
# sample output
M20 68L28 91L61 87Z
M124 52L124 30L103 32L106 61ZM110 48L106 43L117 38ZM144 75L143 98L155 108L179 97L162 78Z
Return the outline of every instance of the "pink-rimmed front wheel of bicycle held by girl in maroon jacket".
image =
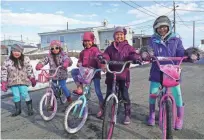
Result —
M115 98L106 101L104 108L104 119L102 126L102 139L111 139L115 126L115 118L117 114Z

